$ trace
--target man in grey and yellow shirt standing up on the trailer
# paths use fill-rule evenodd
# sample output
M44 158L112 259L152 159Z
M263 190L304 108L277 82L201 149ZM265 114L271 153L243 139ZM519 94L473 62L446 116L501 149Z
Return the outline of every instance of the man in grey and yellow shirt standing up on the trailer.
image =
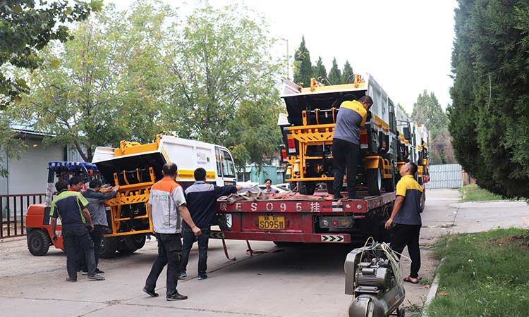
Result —
M334 199L341 199L343 175L347 168L347 192L349 199L360 198L356 194L356 166L360 157L360 127L365 125L367 111L373 99L365 95L353 101L343 101L336 116L332 139L332 170L334 173Z

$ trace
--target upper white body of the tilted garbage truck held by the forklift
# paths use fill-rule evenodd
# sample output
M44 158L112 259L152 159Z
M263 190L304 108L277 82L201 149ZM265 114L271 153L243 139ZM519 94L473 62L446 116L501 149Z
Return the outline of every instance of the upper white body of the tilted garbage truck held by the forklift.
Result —
M164 163L173 162L178 166L178 182L183 187L195 182L193 173L196 168L206 170L207 182L218 186L235 185L237 180L235 163L229 149L171 135L158 135L154 143L121 141L119 148L97 147L92 159L107 182L120 177L128 171L133 178L134 171L147 171L152 167L156 178L162 178ZM123 174L126 175L126 174ZM140 172L138 172L138 178ZM121 180L120 183L125 180Z

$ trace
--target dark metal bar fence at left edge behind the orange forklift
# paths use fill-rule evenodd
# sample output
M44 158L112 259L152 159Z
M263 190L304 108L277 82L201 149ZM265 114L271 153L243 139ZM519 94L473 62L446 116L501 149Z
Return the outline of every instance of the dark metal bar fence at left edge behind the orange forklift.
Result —
M0 238L25 235L25 212L42 204L45 194L0 195Z

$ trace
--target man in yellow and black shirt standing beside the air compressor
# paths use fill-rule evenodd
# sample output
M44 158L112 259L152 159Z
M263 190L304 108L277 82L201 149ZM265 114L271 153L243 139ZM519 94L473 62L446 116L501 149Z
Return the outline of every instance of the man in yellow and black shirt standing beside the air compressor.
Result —
M420 269L420 248L419 232L422 225L420 218L420 197L422 187L415 180L417 165L408 162L401 167L401 180L396 185L396 199L391 211L391 216L386 222L386 229L391 225L391 249L397 254L402 253L404 247L408 247L411 258L411 272L406 282L417 284L419 282L418 273Z

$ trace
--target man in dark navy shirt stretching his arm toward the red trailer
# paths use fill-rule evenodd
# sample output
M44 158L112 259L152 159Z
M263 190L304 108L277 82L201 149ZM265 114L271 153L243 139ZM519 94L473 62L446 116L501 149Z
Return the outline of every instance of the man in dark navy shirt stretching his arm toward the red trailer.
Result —
M198 239L198 280L207 278L207 242L209 240L210 223L217 213L217 199L224 195L234 194L242 189L241 186L228 185L219 187L206 183L206 170L197 168L195 170L195 183L186 189L186 201L188 202L189 213L195 221L202 235ZM189 251L195 242L193 230L183 224L183 247L181 273L179 279L186 278L186 267L188 266Z

